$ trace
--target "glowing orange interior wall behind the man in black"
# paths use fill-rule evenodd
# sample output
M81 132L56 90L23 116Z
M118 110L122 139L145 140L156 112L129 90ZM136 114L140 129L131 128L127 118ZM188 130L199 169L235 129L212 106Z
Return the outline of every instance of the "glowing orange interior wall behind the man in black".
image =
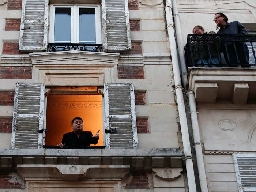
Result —
M45 144L59 144L63 134L73 131L71 120L74 117L83 119L83 131L91 131L95 135L100 130L98 144L91 146L103 146L101 95L48 95L46 129L49 131Z

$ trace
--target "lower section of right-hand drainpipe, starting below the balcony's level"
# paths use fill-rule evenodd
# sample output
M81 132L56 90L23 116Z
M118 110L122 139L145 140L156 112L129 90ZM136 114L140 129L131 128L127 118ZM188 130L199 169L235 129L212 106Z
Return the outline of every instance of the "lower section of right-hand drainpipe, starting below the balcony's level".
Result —
M196 99L193 91L189 91L187 93L189 99L189 108L191 114L192 121L192 129L193 129L193 137L195 142L195 150L196 150L196 162L199 174L200 188L201 192L208 192L206 174L204 169L204 159L203 159L203 151L199 133L199 125L197 120L197 112L196 112Z

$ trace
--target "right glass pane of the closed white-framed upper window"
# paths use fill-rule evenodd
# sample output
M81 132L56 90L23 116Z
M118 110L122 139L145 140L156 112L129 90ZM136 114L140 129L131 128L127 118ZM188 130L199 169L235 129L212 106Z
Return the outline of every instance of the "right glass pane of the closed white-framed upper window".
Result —
M94 8L79 8L79 43L96 43Z

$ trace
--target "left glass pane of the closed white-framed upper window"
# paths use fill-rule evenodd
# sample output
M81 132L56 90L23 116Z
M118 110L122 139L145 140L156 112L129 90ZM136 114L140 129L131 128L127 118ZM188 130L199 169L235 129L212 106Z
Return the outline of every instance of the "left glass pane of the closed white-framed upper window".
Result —
M71 42L71 8L55 8L54 43Z

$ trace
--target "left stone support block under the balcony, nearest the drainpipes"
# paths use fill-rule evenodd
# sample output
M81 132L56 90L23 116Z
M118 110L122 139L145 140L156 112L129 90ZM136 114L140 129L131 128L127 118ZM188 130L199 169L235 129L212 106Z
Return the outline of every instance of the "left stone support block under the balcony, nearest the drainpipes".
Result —
M195 83L195 97L198 103L215 103L217 92L217 83Z

